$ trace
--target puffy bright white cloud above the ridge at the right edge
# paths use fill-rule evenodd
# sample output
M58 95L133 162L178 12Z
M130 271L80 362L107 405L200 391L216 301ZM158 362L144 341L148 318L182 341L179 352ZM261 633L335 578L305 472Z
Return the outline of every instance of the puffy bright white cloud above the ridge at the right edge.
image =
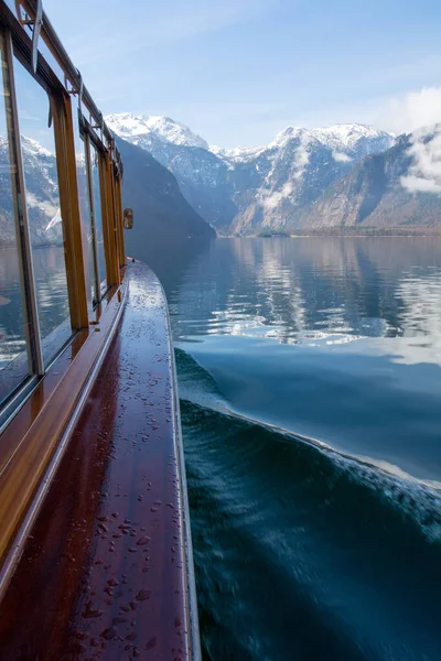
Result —
M394 133L410 133L441 121L441 87L423 87L389 99L376 123Z

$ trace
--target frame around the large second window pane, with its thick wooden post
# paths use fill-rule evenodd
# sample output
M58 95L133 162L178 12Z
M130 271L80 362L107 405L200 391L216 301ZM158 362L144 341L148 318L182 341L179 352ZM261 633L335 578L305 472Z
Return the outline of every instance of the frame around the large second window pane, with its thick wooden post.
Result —
M24 402L30 391L32 391L39 381L44 378L53 362L65 350L66 346L72 343L79 328L88 326L88 312L84 282L80 231L75 231L75 226L79 226L79 224L76 223L76 218L79 217L79 210L76 177L73 180L71 175L72 161L74 161L75 167L75 150L72 148L69 139L69 136L72 136L73 132L72 112L69 117L71 99L57 78L54 75L51 75L51 71L45 66L45 63L42 62L40 54L37 69L35 73L32 71L32 45L30 40L25 39L25 35L20 34L20 37L18 37L13 26L8 23L0 23L0 39L3 44L4 87L9 88L9 95L4 95L4 101L10 162L13 169L11 184L29 366L28 376L19 384L11 388L0 405L1 431L9 421L11 412L17 412L20 409L20 404ZM36 286L28 218L26 187L15 90L15 58L32 76L35 83L47 94L51 109L50 116L52 118L51 126L53 126L54 131L72 333L69 338L64 342L47 360L43 359L42 335L36 302Z

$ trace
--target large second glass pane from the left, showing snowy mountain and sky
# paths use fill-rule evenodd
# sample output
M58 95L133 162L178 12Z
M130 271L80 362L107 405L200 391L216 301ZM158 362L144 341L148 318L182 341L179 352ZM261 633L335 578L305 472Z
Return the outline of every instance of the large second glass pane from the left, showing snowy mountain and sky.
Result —
M14 59L24 185L44 361L71 337L55 137L47 93Z

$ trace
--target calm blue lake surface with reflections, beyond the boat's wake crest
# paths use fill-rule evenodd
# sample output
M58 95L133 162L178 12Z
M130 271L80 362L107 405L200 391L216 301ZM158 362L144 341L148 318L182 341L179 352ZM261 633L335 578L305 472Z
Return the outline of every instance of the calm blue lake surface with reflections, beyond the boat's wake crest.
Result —
M440 239L220 239L166 293L230 410L441 480Z

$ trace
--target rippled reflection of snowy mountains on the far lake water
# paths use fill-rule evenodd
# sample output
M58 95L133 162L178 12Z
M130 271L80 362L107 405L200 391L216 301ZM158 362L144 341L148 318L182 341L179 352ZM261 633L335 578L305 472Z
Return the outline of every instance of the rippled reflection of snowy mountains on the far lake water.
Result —
M440 358L439 239L219 239L170 294L176 339L430 336Z

